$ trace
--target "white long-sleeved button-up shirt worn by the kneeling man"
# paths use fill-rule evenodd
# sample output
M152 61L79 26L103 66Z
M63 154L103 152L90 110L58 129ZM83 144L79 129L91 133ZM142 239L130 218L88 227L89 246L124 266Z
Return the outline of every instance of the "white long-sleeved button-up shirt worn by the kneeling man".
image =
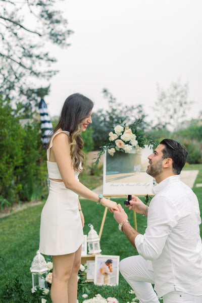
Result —
M202 244L200 212L193 191L171 176L153 189L147 228L138 234L139 255L151 260L158 296L170 291L202 295Z

